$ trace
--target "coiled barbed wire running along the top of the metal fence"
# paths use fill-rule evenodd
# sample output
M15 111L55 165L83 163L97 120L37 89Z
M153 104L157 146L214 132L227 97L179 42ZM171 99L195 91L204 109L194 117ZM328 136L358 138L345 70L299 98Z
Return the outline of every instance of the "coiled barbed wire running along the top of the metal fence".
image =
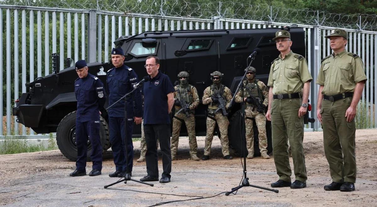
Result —
M377 15L336 14L311 9L276 8L268 5L252 5L237 2L192 3L185 0L0 0L1 4L43 6L54 8L95 9L173 17L211 19L212 17L239 20L255 20L268 23L320 25L357 30L377 31Z

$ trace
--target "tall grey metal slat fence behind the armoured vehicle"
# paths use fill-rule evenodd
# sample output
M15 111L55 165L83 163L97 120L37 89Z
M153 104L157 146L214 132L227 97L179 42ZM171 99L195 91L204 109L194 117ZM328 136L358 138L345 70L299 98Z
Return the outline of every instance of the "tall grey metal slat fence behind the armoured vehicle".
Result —
M51 71L50 54L60 53L60 67L64 57L86 59L89 62L108 62L113 42L121 35L135 35L153 30L192 29L254 29L290 26L290 23L212 17L211 19L171 17L161 15L132 14L82 9L41 8L33 6L0 5L0 113L6 111L6 135L26 135L26 129L11 128L11 108L20 93L26 92L26 82L48 75ZM309 69L314 81L311 84L310 100L313 105L312 117L316 117L315 102L318 85L315 84L320 60L331 54L329 41L324 38L333 27L298 24L306 31ZM368 77L363 100L371 103L365 115L377 126L377 32L346 29L347 50L357 53L365 63ZM36 35L36 37L35 37ZM294 40L293 40L294 41ZM294 44L294 43L293 43ZM6 76L6 79L3 78ZM12 82L14 84L12 84ZM6 84L3 86L3 84ZM12 85L14 87L12 88ZM6 94L4 96L4 93ZM5 97L5 99L4 99ZM6 106L3 106L5 100ZM311 128L320 128L317 121ZM3 129L3 122L0 123ZM21 131L21 132L19 132ZM33 134L31 131L30 134Z

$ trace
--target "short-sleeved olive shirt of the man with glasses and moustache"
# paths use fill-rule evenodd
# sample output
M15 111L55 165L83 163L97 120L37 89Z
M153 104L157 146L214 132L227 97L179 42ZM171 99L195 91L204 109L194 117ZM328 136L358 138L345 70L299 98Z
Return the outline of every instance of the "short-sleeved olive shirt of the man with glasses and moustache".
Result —
M284 59L280 54L272 62L267 85L274 87L273 94L300 93L303 84L311 80L305 58L291 50Z

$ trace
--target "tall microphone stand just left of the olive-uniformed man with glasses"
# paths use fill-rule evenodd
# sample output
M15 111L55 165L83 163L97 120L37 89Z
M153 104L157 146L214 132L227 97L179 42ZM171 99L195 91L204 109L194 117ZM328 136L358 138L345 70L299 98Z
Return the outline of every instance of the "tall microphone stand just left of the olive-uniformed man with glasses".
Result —
M248 58L249 59L249 58ZM250 64L248 65L248 67L251 65L251 62L253 62L253 60L255 59L255 55L253 55L251 57L251 61L250 61ZM240 119L240 124L241 124L241 142L246 145L246 131L245 131L245 101L244 101L244 88L245 88L245 85L244 85L244 78L246 76L246 73L247 73L247 70L245 71L245 74L244 76L242 76L242 79L241 81L239 82L238 84L238 87L237 87L237 90L236 92L234 93L234 96L233 96L233 100L234 100L234 97L236 96L238 90L241 90L241 98L242 98L242 101L241 101L241 119ZM242 147L242 149L244 149ZM242 184L237 186L237 187L233 187L232 190L230 192L227 192L225 193L226 196L228 196L230 193L233 193L234 191L242 188L242 187L255 187L255 188L259 188L259 189L263 189L263 190L270 190L270 191L273 191L275 193L279 193L279 190L275 190L275 189L269 189L269 188L266 188L266 187L261 187L261 186L254 186L254 185L251 185L249 183L249 178L247 177L246 175L247 173L247 169L246 169L246 155L244 155L244 178L242 180Z

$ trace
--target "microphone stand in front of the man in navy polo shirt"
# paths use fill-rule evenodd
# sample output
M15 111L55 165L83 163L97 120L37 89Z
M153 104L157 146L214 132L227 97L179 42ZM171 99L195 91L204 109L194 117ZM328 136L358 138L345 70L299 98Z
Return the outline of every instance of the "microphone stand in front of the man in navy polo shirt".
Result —
M122 141L123 144L124 144L124 148L126 148L125 152L126 152L126 173L124 174L124 179L121 179L121 180L118 180L116 181L115 183L112 183L112 184L109 184L109 185L106 185L106 186L103 186L104 189L106 189L107 187L110 187L112 185L115 185L117 183L121 183L124 181L124 183L127 183L127 181L135 181L137 183L143 183L143 184L146 184L146 185L149 185L149 186L152 186L153 187L153 184L150 184L150 183L146 183L146 182L143 182L143 181L139 181L139 180L135 180L135 179L132 179L130 174L129 174L129 170L128 170L128 149L127 149L127 145L126 145L126 139L127 139L127 110L126 110L126 97L129 96L130 94L133 93L133 91L135 91L137 88L139 88L142 84L138 85L138 87L136 88L133 88L133 90L129 93L127 93L126 95L124 95L123 97L121 97L119 100L117 100L115 103L113 103L111 106L107 107L106 110L108 110L109 108L113 107L113 105L115 105L116 103L120 102L122 99L124 99L124 140ZM132 142L132 138L131 138L131 142Z

